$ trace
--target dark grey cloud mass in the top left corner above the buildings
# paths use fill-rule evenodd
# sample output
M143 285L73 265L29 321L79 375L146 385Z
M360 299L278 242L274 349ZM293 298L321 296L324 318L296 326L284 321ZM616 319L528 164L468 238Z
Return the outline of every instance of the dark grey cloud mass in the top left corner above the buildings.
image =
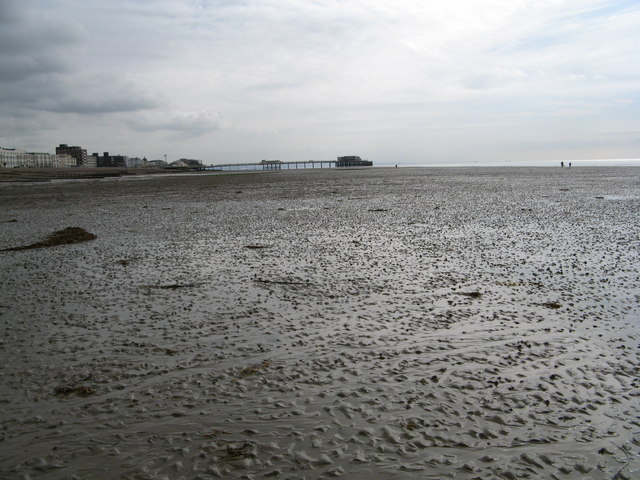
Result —
M91 74L83 55L89 34L49 13L31 2L0 0L0 105L77 114L156 106L126 71Z

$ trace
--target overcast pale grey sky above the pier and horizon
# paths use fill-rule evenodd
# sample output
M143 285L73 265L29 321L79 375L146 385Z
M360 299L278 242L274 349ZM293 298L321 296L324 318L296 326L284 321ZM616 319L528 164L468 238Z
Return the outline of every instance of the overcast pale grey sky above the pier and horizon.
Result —
M640 157L640 2L0 0L0 146Z

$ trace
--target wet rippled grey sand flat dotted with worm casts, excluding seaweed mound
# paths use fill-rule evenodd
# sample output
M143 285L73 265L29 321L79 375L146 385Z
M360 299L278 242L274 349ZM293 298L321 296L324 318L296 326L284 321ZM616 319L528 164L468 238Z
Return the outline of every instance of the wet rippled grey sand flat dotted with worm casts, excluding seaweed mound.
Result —
M0 185L0 477L637 478L639 174Z

